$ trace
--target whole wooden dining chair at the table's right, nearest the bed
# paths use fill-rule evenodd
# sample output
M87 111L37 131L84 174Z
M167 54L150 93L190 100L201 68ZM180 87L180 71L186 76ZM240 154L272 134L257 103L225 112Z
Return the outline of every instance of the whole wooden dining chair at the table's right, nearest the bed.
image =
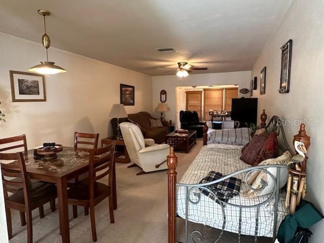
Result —
M68 203L73 206L75 217L76 206L90 208L92 239L97 241L95 209L103 199L108 197L110 222L114 223L113 217L113 194L112 173L114 163L115 141L103 148L91 149L89 154L89 177L77 182L68 189ZM98 182L108 175L108 185Z

